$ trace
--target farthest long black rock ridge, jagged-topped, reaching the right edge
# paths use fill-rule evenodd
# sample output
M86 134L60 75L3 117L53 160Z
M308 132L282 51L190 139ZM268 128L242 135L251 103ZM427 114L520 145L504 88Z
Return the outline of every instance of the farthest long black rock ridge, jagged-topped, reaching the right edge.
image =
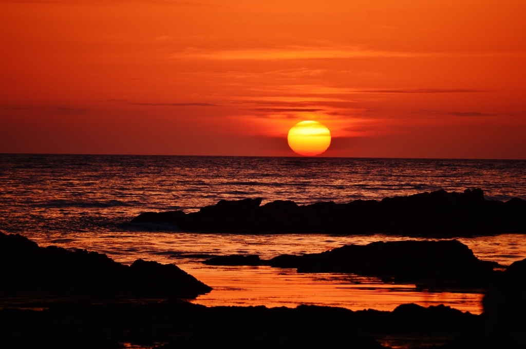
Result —
M526 232L526 200L485 200L481 189L437 191L348 204L298 206L261 198L220 200L199 212L146 212L131 223L170 223L189 231L237 233L399 234L440 237Z

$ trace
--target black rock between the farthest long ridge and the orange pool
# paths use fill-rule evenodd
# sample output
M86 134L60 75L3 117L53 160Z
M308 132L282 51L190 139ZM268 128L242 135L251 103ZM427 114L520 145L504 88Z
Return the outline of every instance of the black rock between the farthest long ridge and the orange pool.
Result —
M341 272L376 276L396 283L416 282L441 287L484 287L498 263L482 261L457 240L390 241L346 245L303 256L281 255L270 260L258 256L221 256L208 265L266 265L297 268L298 272Z

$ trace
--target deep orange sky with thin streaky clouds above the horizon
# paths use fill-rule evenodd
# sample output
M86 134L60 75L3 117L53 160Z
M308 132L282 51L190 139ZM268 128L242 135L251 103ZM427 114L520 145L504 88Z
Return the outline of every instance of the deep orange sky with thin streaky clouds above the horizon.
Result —
M0 0L0 152L526 158L526 2Z

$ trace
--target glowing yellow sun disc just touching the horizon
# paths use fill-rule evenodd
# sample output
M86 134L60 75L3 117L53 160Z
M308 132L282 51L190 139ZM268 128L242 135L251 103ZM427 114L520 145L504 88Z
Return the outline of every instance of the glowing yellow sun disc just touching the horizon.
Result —
M292 126L287 136L290 149L300 155L314 156L327 150L330 131L317 121L301 121Z

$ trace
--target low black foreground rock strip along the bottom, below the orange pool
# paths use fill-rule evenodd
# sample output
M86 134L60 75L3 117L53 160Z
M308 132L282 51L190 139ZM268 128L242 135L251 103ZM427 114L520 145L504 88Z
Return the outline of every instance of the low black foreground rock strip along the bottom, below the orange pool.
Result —
M57 303L43 311L0 310L0 347L381 349L386 336L454 339L482 324L481 315L414 304L384 312L307 305L206 308L181 301Z

